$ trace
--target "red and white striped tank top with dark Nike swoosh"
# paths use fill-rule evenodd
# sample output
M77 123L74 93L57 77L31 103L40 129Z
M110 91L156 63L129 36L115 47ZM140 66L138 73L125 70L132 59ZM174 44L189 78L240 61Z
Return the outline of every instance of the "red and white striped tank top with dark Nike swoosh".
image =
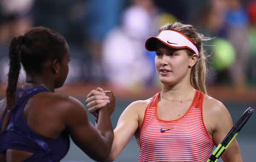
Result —
M204 93L196 90L192 105L183 117L172 121L158 119L155 94L140 128L139 162L206 162L214 142L204 126Z

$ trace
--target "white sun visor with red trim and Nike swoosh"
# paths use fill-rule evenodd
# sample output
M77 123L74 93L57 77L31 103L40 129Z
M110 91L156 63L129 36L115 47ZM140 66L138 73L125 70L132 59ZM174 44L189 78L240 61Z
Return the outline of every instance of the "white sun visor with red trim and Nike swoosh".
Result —
M171 48L187 48L193 52L193 54L198 54L198 48L195 43L189 39L186 35L179 31L173 29L165 29L160 31L158 37L150 37L145 43L145 47L148 51L156 51L157 40L160 40L165 45Z

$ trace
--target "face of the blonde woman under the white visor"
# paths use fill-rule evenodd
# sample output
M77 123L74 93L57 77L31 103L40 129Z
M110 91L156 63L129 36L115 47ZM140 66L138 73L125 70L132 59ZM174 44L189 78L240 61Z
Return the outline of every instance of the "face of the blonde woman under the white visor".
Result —
M196 54L189 55L186 49L171 48L160 41L155 52L155 67L163 84L190 83L191 68L198 58Z

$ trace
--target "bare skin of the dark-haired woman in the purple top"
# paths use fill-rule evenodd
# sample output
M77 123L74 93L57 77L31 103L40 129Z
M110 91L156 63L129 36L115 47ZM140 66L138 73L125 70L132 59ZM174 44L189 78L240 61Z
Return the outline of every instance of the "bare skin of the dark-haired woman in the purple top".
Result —
M35 83L43 83L49 92L43 91L32 96L26 103L23 117L33 131L49 139L56 139L63 131L67 131L73 142L90 158L103 161L111 151L113 142L110 115L114 111L115 97L110 92L100 92L103 98L108 99L105 105L111 102L108 105L113 106L103 106L99 109L98 125L95 128L87 117L86 108L78 99L55 94L54 89L64 84L69 71L70 54L67 45L66 49L61 61L56 59L44 65L42 74L27 74L23 89L38 87ZM3 99L0 101L0 117L3 116L5 108L6 100ZM8 149L6 153L0 154L0 161L20 162L32 154Z

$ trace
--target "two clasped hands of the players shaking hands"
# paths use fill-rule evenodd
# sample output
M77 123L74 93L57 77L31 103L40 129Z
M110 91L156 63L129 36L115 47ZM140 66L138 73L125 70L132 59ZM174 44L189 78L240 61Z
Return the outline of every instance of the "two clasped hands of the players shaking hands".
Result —
M116 97L112 91L104 91L102 88L90 91L87 95L86 104L88 111L97 119L99 117L100 109L108 109L109 115L115 110Z

